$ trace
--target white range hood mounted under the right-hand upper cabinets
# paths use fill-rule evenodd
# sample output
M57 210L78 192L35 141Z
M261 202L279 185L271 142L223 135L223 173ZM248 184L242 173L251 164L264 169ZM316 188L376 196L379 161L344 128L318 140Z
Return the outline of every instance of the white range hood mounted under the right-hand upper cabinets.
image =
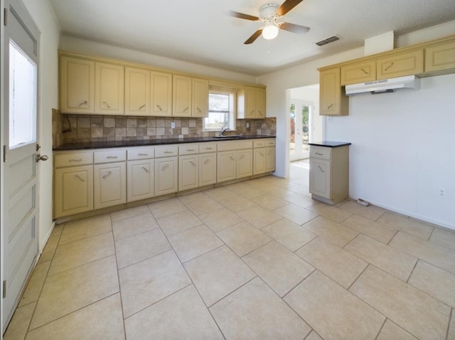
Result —
M371 82L346 85L346 95L359 95L361 93L370 92L372 95L379 93L395 92L401 88L420 88L420 79L415 75L407 75L405 77L390 78L382 80L373 80Z

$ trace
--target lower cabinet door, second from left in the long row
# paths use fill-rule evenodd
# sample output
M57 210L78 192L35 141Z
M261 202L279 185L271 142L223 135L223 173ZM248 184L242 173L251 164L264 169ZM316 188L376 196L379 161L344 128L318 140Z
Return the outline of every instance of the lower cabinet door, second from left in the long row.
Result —
M127 165L121 163L95 164L94 208L106 208L127 202Z

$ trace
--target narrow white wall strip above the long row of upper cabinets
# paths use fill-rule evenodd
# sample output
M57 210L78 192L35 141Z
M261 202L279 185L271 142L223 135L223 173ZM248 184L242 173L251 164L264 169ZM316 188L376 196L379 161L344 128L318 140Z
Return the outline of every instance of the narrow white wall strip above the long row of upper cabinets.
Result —
M130 50L105 43L96 43L73 36L62 36L60 49L63 51L82 53L89 55L97 55L105 58L113 58L127 60L132 63L141 63L152 65L156 68L165 68L168 70L178 70L185 73L193 73L207 77L220 78L224 80L232 80L243 83L256 83L256 77L245 75L243 73L235 73L232 71L221 70L219 68L211 68L186 61L161 57L150 53Z

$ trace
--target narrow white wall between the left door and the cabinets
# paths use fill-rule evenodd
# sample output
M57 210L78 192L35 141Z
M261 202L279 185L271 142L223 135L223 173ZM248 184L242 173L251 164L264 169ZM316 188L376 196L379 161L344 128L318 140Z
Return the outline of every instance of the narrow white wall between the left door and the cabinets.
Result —
M58 109L58 42L60 27L48 0L22 0L40 31L38 73L38 143L40 153L49 156L38 166L38 248L43 250L53 228L52 109Z

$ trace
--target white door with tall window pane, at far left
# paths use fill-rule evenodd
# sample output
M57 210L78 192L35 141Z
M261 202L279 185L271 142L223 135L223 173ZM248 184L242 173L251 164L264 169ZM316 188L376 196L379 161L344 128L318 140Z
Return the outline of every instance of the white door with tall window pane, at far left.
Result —
M36 122L38 30L19 0L6 0L4 28L3 330L38 255Z

